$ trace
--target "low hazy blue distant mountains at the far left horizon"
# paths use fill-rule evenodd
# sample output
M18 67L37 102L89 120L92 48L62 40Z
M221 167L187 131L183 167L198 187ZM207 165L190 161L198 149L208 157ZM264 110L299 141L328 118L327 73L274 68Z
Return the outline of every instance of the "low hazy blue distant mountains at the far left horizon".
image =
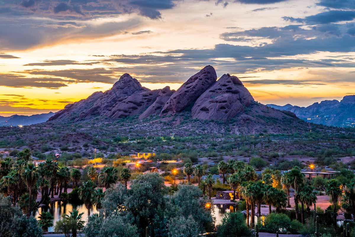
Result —
M33 114L30 116L17 114L11 115L9 117L0 116L0 126L17 126L44 123L53 115L53 112L49 112L44 114Z

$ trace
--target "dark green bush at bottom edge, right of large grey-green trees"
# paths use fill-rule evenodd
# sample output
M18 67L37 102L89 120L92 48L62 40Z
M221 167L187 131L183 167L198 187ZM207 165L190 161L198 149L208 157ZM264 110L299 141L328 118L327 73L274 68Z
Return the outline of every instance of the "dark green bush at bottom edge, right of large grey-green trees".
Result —
M251 236L241 212L228 212L224 214L221 223L217 226L218 237Z

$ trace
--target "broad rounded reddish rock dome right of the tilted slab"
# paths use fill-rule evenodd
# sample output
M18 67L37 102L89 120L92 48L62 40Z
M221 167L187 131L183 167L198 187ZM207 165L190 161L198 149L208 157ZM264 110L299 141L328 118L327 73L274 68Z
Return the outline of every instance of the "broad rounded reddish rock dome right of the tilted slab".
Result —
M226 121L254 101L236 76L224 74L205 91L191 109L192 118Z

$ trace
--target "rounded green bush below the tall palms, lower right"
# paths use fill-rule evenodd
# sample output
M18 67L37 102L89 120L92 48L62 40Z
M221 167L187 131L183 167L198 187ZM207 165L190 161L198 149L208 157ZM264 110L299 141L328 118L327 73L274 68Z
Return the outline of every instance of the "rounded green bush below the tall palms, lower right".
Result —
M272 213L266 216L265 225L261 226L260 230L269 233L276 233L277 231L286 232L290 228L290 225L290 217L285 214Z

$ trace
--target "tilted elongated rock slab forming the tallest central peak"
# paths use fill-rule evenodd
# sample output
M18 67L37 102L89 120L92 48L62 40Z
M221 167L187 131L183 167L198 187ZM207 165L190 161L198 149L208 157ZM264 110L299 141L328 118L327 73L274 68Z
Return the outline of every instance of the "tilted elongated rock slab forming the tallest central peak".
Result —
M169 98L160 113L160 116L180 112L191 105L204 91L206 91L217 80L217 74L210 65L190 77L180 88Z

